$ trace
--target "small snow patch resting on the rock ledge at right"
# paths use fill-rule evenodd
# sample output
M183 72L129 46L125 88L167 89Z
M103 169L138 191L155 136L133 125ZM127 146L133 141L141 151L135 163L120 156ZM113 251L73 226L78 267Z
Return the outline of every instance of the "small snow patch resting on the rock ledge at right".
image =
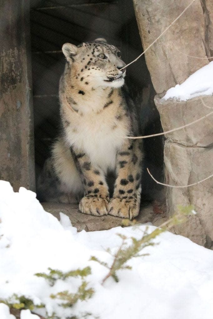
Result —
M200 95L212 95L213 93L213 61L194 72L182 84L170 88L164 100L169 98L186 101Z

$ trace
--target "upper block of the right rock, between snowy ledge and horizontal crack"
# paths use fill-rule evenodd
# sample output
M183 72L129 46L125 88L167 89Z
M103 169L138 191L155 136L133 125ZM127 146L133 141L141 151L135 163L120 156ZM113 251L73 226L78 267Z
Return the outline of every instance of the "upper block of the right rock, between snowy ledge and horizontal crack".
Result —
M209 109L205 105L212 107ZM213 97L201 96L187 101L154 98L161 116L163 131L172 130L193 122L213 111ZM193 125L166 135L167 138L186 146L207 147L213 144L213 114Z

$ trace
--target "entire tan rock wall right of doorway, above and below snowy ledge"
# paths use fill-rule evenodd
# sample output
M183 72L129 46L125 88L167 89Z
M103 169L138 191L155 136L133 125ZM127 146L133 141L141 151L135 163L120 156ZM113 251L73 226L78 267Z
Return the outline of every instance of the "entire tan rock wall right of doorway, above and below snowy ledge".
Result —
M146 49L191 0L133 0L138 28ZM196 59L190 56L197 56ZM164 131L183 126L210 112L200 98L187 101L160 99L176 84L183 83L213 56L213 1L195 1L145 54L157 96L155 105ZM207 58L209 57L209 59ZM213 97L202 97L213 107ZM189 185L213 174L213 116L165 136L165 181ZM173 231L211 247L213 241L213 180L188 188L167 188L168 214L177 204L194 204L197 215Z

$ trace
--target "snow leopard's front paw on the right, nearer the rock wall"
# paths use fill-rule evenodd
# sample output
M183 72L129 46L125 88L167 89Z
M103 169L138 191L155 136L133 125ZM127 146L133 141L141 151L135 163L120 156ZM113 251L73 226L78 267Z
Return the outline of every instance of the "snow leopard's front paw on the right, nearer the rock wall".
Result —
M112 198L109 202L109 215L133 219L139 214L139 203L136 199Z

